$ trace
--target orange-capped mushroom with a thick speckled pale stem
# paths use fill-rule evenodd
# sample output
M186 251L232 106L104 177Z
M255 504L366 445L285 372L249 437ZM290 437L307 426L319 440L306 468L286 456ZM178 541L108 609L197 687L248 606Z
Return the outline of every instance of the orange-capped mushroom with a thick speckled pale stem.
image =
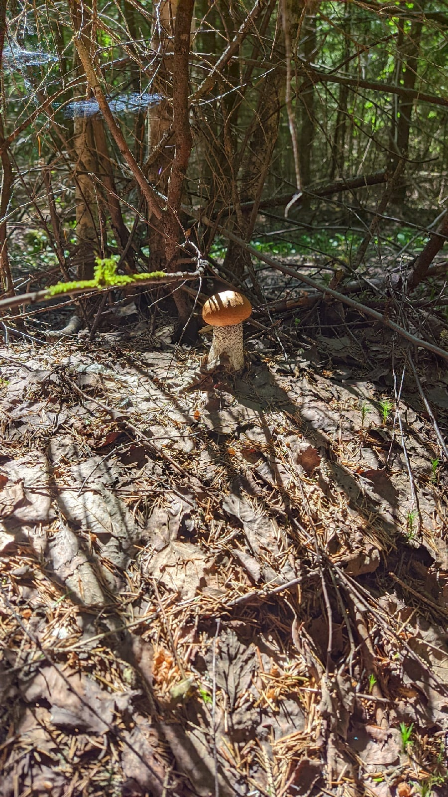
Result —
M207 355L207 370L212 371L221 355L229 358L230 369L244 368L242 322L249 318L252 305L237 291L222 291L210 296L202 308L202 318L213 327L213 341Z

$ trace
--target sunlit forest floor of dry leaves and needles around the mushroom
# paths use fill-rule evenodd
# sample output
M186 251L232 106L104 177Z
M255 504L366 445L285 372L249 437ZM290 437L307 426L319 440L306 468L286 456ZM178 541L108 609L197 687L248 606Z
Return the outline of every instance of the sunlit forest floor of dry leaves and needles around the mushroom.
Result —
M0 349L2 797L448 794L448 472L352 329Z

